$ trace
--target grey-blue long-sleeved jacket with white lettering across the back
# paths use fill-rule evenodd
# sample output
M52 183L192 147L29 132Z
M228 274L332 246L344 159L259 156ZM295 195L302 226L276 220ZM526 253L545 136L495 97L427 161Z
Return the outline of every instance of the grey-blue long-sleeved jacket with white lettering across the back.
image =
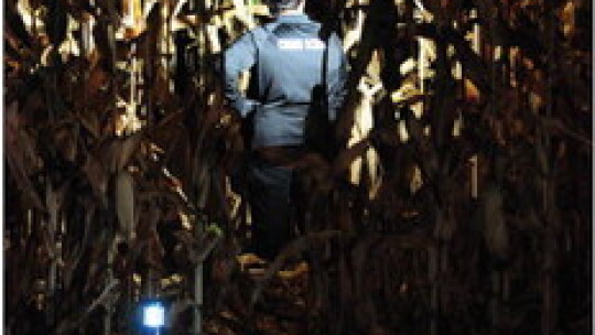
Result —
M336 35L326 43L320 34L321 24L306 15L281 15L226 51L226 95L240 115L255 112L252 147L303 144L304 120L323 77L329 118L335 118L344 97L345 57ZM236 78L252 66L258 87L246 98L239 95Z

